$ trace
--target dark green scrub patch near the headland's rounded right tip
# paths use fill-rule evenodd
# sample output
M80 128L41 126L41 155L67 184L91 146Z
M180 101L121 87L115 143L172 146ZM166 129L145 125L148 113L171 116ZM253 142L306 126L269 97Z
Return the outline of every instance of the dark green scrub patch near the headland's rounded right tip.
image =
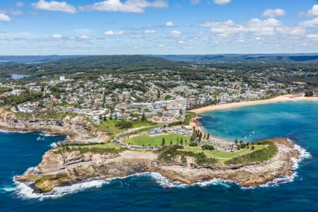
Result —
M258 149L257 146L266 146L266 148ZM225 164L243 164L252 162L261 162L264 160L269 160L277 153L277 147L275 143L271 141L258 141L252 144L251 149L254 147L251 153L246 153L245 155L238 155L235 158L225 161Z

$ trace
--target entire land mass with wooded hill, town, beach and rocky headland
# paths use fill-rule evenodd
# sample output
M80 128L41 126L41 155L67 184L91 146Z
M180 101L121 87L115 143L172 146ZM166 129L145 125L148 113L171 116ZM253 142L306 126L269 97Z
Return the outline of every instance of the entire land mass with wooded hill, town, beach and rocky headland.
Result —
M196 117L231 107L316 100L315 67L141 55L1 64L0 128L67 136L37 168L16 177L35 192L141 172L185 184L218 178L252 187L293 175L300 154L294 144L285 138L220 141ZM23 77L10 78L13 70Z

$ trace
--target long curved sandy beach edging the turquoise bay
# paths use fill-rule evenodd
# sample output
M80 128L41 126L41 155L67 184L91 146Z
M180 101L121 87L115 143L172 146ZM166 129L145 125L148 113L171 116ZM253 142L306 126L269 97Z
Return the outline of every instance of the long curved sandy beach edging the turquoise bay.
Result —
M276 98L272 98L269 100L256 100L256 101L248 101L248 102L232 102L224 105L211 105L207 107L201 107L198 109L191 110L191 112L195 112L196 114L200 114L203 112L209 112L213 110L225 110L234 107L243 107L249 105L261 105L266 103L273 102L288 102L288 101L314 101L318 100L318 97L305 97L305 94L302 95L281 95Z

